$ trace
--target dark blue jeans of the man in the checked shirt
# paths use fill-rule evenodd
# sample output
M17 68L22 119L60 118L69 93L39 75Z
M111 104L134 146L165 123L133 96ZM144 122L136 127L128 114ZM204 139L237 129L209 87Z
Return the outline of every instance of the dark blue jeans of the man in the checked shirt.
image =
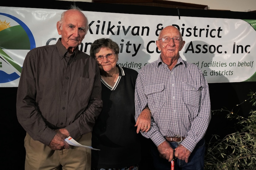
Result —
M175 149L178 147L177 142L169 142L170 146ZM178 158L175 158L174 169L175 170L203 170L204 169L204 153L205 153L205 139L201 139L191 155L189 161L186 163ZM159 152L156 145L151 142L151 154L153 157L153 163L155 170L170 170L171 163L167 159L159 157Z

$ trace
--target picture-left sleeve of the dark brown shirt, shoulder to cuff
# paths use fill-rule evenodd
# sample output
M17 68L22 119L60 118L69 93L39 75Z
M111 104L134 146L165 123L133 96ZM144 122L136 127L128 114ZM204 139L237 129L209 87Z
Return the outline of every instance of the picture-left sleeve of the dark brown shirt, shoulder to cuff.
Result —
M36 102L36 82L34 79L34 60L28 54L23 63L23 69L16 98L16 114L18 122L34 140L49 145L56 134L48 126L39 111Z

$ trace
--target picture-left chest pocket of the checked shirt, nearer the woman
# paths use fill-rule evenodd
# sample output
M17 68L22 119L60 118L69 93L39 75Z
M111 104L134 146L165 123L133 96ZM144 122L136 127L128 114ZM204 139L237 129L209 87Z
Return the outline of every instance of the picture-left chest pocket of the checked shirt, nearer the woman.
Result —
M164 84L151 84L146 86L145 93L148 98L148 106L152 109L160 109L166 102L166 90Z

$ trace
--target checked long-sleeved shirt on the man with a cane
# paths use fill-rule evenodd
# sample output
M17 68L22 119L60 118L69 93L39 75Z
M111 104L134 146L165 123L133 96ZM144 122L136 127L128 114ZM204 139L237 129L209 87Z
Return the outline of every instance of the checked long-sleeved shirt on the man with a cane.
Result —
M170 70L161 56L144 66L135 86L135 119L148 106L151 128L142 135L156 146L165 137L186 137L181 144L192 152L203 138L211 119L208 84L201 70L178 58Z

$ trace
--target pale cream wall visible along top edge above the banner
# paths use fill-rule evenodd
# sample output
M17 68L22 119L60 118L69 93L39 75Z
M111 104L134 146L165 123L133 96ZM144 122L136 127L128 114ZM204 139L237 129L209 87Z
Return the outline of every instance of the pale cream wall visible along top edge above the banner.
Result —
M65 1L91 2L91 0L65 0ZM207 5L208 9L216 9L216 10L230 10L230 11L236 11L236 12L256 11L256 0L179 0L175 2Z

